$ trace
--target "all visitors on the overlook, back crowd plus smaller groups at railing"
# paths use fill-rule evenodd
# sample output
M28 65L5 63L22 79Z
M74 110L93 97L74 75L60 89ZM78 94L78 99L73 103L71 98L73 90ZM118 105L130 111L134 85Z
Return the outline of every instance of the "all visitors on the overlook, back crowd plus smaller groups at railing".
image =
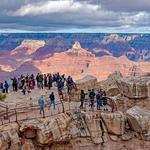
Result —
M73 88L75 88L75 83L71 76L68 76L67 78L65 75L61 75L59 73L56 74L40 74L38 73L36 76L33 74L26 76L21 75L18 78L14 77L11 78L12 81L12 90L14 92L17 92L18 90L21 90L22 93L25 95L26 93L30 93L33 89L39 88L39 89L51 89L54 86L57 87L58 93L61 94L64 87L67 87L68 94L71 92ZM0 93L8 93L10 88L10 84L7 81L0 82ZM86 101L86 97L88 97L88 104L89 107L93 108L94 103L96 100L96 106L97 110L108 110L107 108L107 97L104 90L100 89L99 91L96 91L94 89L89 89L86 93L84 90L81 90L80 92L80 108L83 109L84 102ZM40 107L40 113L44 112L44 106L45 106L45 98L42 95L38 99L38 105ZM53 108L55 109L56 105L56 98L54 92L51 92L49 95L49 109L53 105Z

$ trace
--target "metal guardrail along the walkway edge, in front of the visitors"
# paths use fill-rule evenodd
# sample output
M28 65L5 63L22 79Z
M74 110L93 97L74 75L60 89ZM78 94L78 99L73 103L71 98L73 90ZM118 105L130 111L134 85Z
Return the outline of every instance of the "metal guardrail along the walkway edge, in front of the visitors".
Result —
M3 115L0 116L0 126L13 122L21 122L24 120L32 120L39 118L47 118L51 116L55 116L61 113L73 112L77 108L79 109L80 102L66 102L60 101L55 105L55 109L50 108L49 105L46 104L44 107L44 114L40 114L40 108L38 105L32 107L16 107L14 109L8 109L4 112ZM52 107L52 106L51 106ZM96 108L88 107L88 101L84 103L83 111L94 111L94 112L102 112L102 110L96 110ZM107 112L112 112L110 109Z

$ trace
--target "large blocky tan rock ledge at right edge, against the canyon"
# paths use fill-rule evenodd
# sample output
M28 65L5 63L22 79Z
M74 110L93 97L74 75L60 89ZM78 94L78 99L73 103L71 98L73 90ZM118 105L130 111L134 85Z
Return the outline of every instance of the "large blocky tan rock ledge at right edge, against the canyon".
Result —
M121 78L117 84L122 95L128 98L150 97L150 77Z

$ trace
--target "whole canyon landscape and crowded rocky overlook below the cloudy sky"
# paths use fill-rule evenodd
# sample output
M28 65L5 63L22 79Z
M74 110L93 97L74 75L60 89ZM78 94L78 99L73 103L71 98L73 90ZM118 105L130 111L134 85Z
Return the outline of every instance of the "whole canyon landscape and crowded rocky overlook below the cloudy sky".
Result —
M0 39L0 150L150 149L149 34Z

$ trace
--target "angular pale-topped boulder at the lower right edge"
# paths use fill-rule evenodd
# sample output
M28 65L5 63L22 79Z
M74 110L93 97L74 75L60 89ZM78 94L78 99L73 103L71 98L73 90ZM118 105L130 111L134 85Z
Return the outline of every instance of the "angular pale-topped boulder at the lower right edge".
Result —
M150 111L134 106L127 110L127 120L132 130L150 140Z

